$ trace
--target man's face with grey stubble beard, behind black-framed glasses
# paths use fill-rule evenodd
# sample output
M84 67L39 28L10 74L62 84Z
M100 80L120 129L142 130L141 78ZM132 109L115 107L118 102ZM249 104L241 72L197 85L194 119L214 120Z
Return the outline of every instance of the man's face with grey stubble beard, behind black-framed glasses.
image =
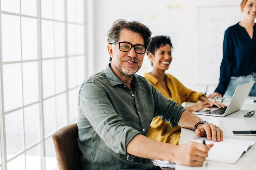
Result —
M122 30L120 32L120 39L118 42L127 42L130 44L142 44L144 45L144 39L139 33L134 33L129 30ZM121 76L133 76L140 68L143 62L144 54L138 54L135 52L134 47L128 52L120 51L119 44L114 44L115 48L112 50L111 69Z

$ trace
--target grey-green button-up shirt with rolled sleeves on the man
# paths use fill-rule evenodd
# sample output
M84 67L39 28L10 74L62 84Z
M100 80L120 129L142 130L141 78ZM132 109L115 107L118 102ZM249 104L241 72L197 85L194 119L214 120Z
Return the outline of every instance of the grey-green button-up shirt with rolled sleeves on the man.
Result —
M106 69L83 81L78 96L78 146L84 170L161 169L150 159L129 155L126 146L137 134L146 136L153 117L176 126L185 108L134 75L129 89ZM157 152L157 150L156 150Z

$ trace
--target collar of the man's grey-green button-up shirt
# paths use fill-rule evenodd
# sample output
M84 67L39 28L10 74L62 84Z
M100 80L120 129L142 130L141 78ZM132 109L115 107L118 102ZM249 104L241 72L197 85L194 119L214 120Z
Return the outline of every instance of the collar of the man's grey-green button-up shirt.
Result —
M116 86L117 84L123 84L123 82L111 70L110 63L107 64L107 67L104 70L104 74L106 75L112 87ZM138 79L135 75L133 76L131 84L134 86L138 84Z

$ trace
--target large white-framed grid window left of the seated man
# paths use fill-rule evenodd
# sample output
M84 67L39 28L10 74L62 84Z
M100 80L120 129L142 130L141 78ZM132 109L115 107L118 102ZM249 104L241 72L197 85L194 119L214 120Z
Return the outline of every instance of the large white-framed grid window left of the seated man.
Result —
M51 135L77 120L86 76L85 0L0 6L0 170L55 170Z

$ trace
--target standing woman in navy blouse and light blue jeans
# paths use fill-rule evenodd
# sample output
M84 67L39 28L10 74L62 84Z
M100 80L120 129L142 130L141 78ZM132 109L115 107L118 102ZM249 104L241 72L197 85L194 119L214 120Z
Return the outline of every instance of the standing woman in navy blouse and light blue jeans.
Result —
M208 97L233 96L237 86L256 81L256 0L243 0L240 4L244 19L225 31L220 83ZM256 96L256 83L250 96Z

